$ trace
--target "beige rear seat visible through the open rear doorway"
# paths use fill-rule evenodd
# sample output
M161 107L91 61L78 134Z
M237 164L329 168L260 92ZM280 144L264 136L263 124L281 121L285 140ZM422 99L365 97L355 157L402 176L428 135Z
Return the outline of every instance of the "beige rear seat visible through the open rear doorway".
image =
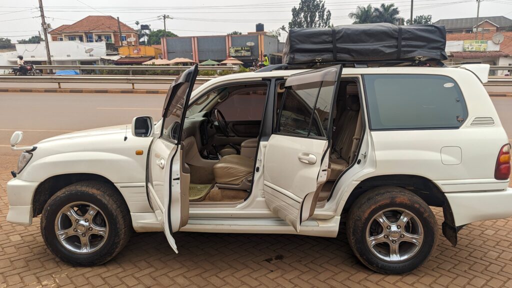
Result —
M346 99L346 110L338 119L335 119L336 130L332 145L332 153L329 159L329 169L331 171L328 180L336 180L345 170L347 170L353 156L352 143L355 135L357 121L359 118L359 95L349 94Z

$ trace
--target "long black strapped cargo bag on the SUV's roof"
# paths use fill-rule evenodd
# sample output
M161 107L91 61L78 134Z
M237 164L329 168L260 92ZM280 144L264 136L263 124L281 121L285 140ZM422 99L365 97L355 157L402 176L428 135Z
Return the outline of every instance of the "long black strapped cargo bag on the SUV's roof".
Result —
M440 25L388 23L290 29L284 64L333 61L446 60L446 29Z

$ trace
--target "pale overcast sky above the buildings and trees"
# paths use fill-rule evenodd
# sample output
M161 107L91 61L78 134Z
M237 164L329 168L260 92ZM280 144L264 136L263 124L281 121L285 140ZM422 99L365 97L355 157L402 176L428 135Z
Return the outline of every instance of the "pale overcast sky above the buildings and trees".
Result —
M112 15L127 25L136 28L135 21L151 24L152 29L163 29L158 15L168 14L167 30L179 36L218 35L233 30L247 33L255 30L261 22L265 30L285 25L291 18L291 8L299 0L217 0L217 1L165 1L165 0L43 0L47 22L56 28L62 24L73 24L88 15ZM411 2L408 0L327 0L334 25L351 24L348 13L358 5L378 6L395 3L400 16L410 17ZM145 6L144 6L145 5ZM0 37L18 39L37 35L40 30L37 0L0 0ZM444 18L476 17L476 0L414 0L414 15L432 14L433 21ZM480 4L480 16L504 15L512 18L512 0L485 0ZM282 39L286 33L282 33Z

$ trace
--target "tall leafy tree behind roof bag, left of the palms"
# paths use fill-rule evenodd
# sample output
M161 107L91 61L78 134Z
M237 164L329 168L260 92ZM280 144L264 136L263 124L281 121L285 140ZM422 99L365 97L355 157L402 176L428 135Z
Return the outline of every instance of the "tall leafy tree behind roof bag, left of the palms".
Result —
M291 9L291 21L288 22L288 29L329 26L331 26L331 11L325 8L325 1L301 0L298 8L294 6Z

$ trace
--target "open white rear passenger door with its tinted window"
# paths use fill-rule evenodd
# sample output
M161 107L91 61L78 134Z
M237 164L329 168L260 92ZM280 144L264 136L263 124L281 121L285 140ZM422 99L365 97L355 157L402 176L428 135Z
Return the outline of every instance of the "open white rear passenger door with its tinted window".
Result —
M265 200L299 232L327 180L332 110L342 67L294 74L263 162Z

